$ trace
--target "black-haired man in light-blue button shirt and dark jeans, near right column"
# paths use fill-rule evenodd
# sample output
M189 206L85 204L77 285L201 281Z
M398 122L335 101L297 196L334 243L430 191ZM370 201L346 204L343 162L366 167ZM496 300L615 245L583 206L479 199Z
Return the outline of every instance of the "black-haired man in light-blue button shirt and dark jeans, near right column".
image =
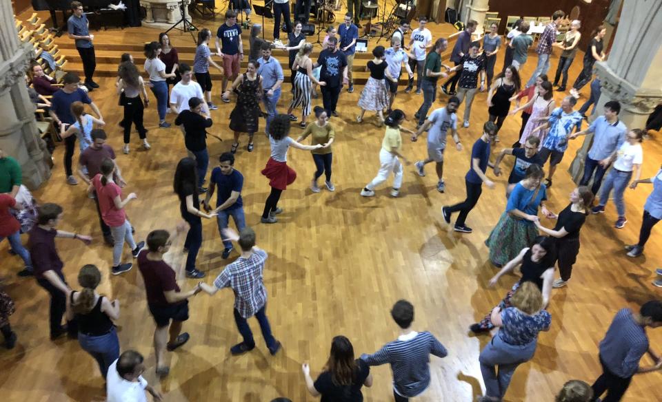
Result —
M578 136L594 133L593 144L584 160L584 176L579 181L580 186L588 185L595 172L591 187L593 195L598 193L605 172L612 165L616 152L621 148L625 136L628 134L628 127L625 127L625 124L619 120L621 104L616 100L610 100L605 103L604 109L604 116L596 118L587 129L578 131L569 137L574 140Z

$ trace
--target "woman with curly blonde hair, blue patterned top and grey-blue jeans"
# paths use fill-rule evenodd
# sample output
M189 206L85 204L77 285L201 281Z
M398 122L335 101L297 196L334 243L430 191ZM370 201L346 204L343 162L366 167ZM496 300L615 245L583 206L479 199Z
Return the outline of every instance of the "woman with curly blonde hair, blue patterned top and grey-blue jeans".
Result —
M479 402L501 401L517 366L533 358L539 332L550 330L552 324L552 315L543 308L543 295L531 282L517 288L509 307L494 307L491 320L499 332L479 357L485 383L485 396Z

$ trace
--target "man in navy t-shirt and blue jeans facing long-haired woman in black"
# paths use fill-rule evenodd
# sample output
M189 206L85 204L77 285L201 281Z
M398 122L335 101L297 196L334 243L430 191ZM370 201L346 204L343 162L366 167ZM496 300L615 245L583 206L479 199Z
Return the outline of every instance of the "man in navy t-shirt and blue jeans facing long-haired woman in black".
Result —
M224 152L219 157L219 166L212 170L212 178L209 180L209 191L205 197L204 207L210 211L209 201L212 198L214 190L219 188L219 195L216 198L216 212L219 223L219 235L223 237L223 230L228 229L230 216L237 225L237 230L241 231L246 227L246 220L243 215L243 200L241 200L241 189L243 187L243 175L237 169L234 169L234 155L232 152ZM232 242L223 240L223 259L230 257L232 252Z

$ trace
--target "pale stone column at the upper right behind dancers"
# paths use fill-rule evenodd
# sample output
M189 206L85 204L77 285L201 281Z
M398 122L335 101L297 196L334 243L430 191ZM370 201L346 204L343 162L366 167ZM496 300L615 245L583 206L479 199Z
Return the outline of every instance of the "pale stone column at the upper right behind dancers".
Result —
M623 3L619 29L606 61L596 63L602 92L595 116L609 100L621 103L619 118L628 128L646 125L648 115L662 102L662 0L628 0ZM581 102L580 102L581 103ZM570 175L579 182L584 159L592 144L585 136L570 165Z

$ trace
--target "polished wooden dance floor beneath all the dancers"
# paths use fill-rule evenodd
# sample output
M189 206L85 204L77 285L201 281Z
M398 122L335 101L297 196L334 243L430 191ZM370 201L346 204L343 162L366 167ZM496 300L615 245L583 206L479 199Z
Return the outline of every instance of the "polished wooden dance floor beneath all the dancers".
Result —
M430 25L437 37L439 27ZM136 34L142 38L154 36L153 32L132 28L121 31L121 37L129 40L130 35ZM552 72L557 60L555 54ZM570 69L571 80L579 74L580 60L578 56ZM502 61L503 54L499 54L497 65ZM535 61L532 54L523 69L524 80L532 73ZM117 107L112 78L99 78L99 84L101 89L91 96L103 112L110 134L108 142L117 151L117 162L129 183L125 192L138 194L139 199L131 202L127 211L137 239L144 240L150 231L168 229L180 219L179 202L172 193L172 176L177 161L186 156L183 140L179 130L157 127L154 101L146 111L152 149L139 149L139 139L133 134L131 153L121 154L122 135L117 127L121 109ZM214 85L214 100L218 100L220 83ZM580 103L587 91L588 86ZM445 359L432 357L432 383L415 400L472 401L481 394L478 356L490 338L468 335L468 326L490 311L516 281L516 277L508 276L496 288L486 287L496 269L488 261L483 242L505 208L508 176L496 179L496 189L484 190L468 218L468 224L474 228L470 235L454 233L443 222L441 207L465 196L463 177L468 169L470 145L481 134L488 115L486 94L477 95L474 101L470 128L459 130L465 149L446 151L446 193L437 192L431 167L425 178L417 176L413 167L406 167L401 198L393 199L388 196L387 186L381 187L374 198L359 195L377 173L383 136L383 128L377 128L371 117L361 125L355 123L360 92L361 87L353 94L343 92L339 102L341 117L331 120L337 128L333 165L337 190L312 193L308 188L314 171L312 158L307 151L292 149L288 164L299 178L283 193L279 205L285 212L279 215L277 224L259 224L269 191L268 181L259 173L269 156L268 141L257 135L256 147L249 154L242 138L237 153L236 167L245 176L243 199L248 224L256 230L259 246L270 254L265 270L268 317L274 335L283 343L282 352L276 357L268 354L259 327L252 320L257 348L247 355L231 357L228 348L240 339L232 319L232 292L224 290L215 297L198 295L191 300L190 319L184 326L191 340L181 350L168 353L170 376L163 381L154 375L154 324L147 310L141 275L137 268L124 275L109 275L111 249L101 240L94 202L86 197L83 185L71 187L65 183L63 146L57 147L52 178L34 195L40 202L63 205L65 218L61 229L90 233L95 238L89 247L72 240L57 241L66 262L68 282L77 288L76 277L83 264L101 268L101 292L121 301L117 322L121 348L136 349L145 355L146 379L163 392L165 401L264 402L277 396L288 396L296 402L313 401L305 390L301 363L309 361L317 377L328 357L332 337L339 334L351 339L357 355L374 352L397 337L389 310L401 298L416 306L414 328L430 330L449 350ZM443 94L439 98L445 100ZM562 94L555 98L560 102ZM422 100L422 96L401 94L396 106L412 116ZM279 111L284 112L289 101L290 94L285 90ZM221 107L212 113L211 132L224 141L208 140L212 160L228 151L232 142L228 129L232 104L217 104ZM434 103L434 107L440 106L439 101ZM463 112L463 107L460 109ZM505 121L501 142L494 152L516 139L520 122L519 116ZM263 120L260 123L263 125ZM414 126L411 117L405 125ZM291 136L296 138L299 131L293 127ZM553 211L568 204L574 184L567 169L580 144L571 142L556 173L554 187L549 191ZM659 167L662 147L658 140L646 141L643 147L643 177L649 177ZM403 153L410 160L424 158L425 142L405 140ZM510 169L511 161L506 163ZM494 177L491 171L488 176ZM612 203L605 214L588 218L581 232L582 248L572 281L552 295L552 329L541 333L534 359L517 370L506 401L552 401L553 394L569 379L592 383L601 372L597 345L614 313L659 297L659 290L651 282L652 271L662 257L661 226L654 229L645 257L633 260L623 252L625 244L636 241L643 203L650 190L650 185L641 185L636 191L627 191L630 222L624 229L613 227L616 213ZM552 225L548 221L545 224ZM172 247L168 260L183 270L185 255L181 246L179 242ZM207 273L208 284L228 262L221 259L222 249L216 223L205 221L198 268ZM236 257L235 252L230 261ZM3 401L102 401L103 379L94 360L76 341L48 340L48 297L34 279L16 276L22 268L21 260L8 255L7 242L0 244L0 258L6 277L3 284L17 304L12 326L19 336L14 350L0 351ZM184 290L195 283L181 279ZM649 334L653 348L662 349L662 332ZM644 358L642 365L648 364L650 360ZM388 366L372 372L374 385L364 389L365 401L390 401L392 377ZM635 377L624 400L656 401L659 396L654 395L660 394L660 374L644 374Z

